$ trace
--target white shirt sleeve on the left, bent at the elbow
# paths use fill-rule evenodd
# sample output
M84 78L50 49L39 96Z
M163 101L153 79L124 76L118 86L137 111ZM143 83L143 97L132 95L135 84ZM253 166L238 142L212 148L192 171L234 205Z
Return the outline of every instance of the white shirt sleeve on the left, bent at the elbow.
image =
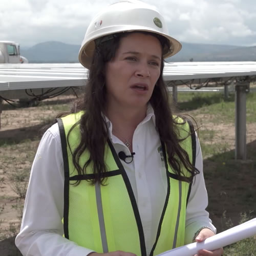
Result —
M58 125L42 137L32 164L20 232L23 255L86 256L93 250L63 237L63 158Z

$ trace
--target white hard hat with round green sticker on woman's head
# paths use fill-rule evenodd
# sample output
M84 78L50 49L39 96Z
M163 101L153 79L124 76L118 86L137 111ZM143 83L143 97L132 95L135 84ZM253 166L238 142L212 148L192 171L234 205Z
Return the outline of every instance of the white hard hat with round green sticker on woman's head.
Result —
M79 51L80 63L90 69L95 49L95 39L132 31L146 31L164 36L170 47L164 49L163 57L170 57L181 49L181 44L168 35L163 16L153 7L140 1L120 1L106 7L91 21Z

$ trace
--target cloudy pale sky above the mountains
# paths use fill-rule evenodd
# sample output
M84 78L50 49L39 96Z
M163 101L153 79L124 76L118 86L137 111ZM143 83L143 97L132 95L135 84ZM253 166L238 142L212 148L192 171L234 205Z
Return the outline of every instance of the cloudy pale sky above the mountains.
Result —
M91 18L116 0L0 0L0 40L80 45ZM184 42L256 45L256 0L143 0Z

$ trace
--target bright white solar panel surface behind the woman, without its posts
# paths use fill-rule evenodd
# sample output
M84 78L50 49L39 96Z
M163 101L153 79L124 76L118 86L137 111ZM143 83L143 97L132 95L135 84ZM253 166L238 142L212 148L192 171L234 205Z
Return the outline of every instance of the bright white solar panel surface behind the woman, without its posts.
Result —
M0 81L8 82L9 90L44 87L83 86L88 70L80 63L24 63L0 65ZM256 62L172 62L165 63L163 77L165 81L206 79L219 77L255 76ZM45 83L42 83L45 81ZM57 82L60 81L60 82ZM33 82L33 83L32 83ZM62 83L62 85L61 85ZM0 91L6 85L0 84Z

